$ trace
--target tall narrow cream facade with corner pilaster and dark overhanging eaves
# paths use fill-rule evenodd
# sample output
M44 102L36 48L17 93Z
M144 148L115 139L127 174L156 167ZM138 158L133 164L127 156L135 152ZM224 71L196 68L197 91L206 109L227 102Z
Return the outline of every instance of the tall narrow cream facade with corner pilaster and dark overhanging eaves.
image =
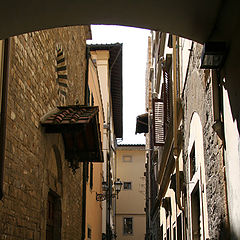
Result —
M101 202L102 208L102 239L114 239L116 229L114 224L115 202L112 200L114 193L114 182L116 179L116 142L122 138L123 120L122 120L122 44L96 44L88 45L90 53L89 79L95 76L95 80L90 84L90 92L99 88L100 95L94 97L96 101L102 102L102 141L104 162L102 169L99 169L100 184L105 185L105 189L100 187L99 191L92 192L95 201ZM90 97L90 99L92 99ZM96 99L96 101L95 101ZM95 175L94 175L95 177ZM96 195L97 194L97 195ZM100 203L99 203L100 204ZM89 205L93 216L96 212ZM94 219L94 217L91 217ZM97 223L96 216L95 222ZM97 223L99 224L99 222ZM99 239L99 238L96 238Z

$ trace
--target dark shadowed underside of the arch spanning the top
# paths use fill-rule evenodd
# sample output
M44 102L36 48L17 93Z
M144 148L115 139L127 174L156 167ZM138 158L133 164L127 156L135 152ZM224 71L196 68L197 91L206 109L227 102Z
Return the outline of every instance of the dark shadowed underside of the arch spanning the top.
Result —
M198 42L226 40L238 22L235 0L4 1L0 39L36 30L117 24L170 32Z

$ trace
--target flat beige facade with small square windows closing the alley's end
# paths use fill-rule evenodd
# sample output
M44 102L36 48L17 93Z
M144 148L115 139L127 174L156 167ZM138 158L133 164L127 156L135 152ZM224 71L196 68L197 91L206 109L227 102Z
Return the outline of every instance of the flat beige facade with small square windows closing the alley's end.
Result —
M116 177L123 187L116 201L117 239L144 239L145 214L145 145L118 145Z

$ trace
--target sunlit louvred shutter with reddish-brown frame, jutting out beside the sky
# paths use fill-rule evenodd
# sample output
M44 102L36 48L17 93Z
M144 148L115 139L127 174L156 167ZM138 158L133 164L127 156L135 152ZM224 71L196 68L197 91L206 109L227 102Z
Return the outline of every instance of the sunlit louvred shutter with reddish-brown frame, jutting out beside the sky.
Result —
M154 146L161 146L165 143L164 104L161 99L153 100L153 138Z

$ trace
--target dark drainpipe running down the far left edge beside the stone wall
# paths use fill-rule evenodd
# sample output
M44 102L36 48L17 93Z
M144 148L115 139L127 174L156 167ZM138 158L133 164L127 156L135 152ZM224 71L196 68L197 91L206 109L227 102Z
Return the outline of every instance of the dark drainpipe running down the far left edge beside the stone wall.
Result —
M2 80L2 102L0 122L0 199L3 198L3 175L6 145L6 122L7 122L7 97L9 79L10 39L4 40L3 53L3 80Z

